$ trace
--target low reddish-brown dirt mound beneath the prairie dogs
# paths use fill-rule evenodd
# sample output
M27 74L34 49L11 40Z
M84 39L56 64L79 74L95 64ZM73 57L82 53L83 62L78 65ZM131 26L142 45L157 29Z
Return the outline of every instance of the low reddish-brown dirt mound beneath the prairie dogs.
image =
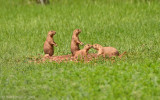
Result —
M49 62L56 62L56 63L61 63L61 62L90 62L90 61L111 61L112 63L115 62L115 57L113 58L103 58L102 56L98 57L97 54L88 54L85 57L81 58L74 58L71 54L70 55L61 55L61 56L44 56L44 55L39 55L39 57L28 57L29 61L28 62L35 62L35 63L43 63L46 61ZM120 58L121 59L121 58Z

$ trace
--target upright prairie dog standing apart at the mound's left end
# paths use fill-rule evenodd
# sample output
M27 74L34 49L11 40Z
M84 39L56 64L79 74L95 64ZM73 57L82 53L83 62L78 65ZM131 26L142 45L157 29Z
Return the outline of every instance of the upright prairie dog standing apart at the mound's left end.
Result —
M53 40L53 36L56 34L56 31L49 31L48 35L47 35L47 39L44 42L44 53L45 55L52 56L54 54L54 47L53 46L57 46L57 44L54 42Z

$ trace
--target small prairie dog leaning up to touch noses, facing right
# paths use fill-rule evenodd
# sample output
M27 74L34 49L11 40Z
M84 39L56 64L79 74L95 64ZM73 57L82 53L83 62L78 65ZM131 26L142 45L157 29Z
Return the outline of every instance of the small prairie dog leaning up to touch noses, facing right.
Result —
M91 49L93 46L91 44L86 44L82 50L79 50L75 53L74 58L77 58L78 56L86 56L88 55L89 49Z

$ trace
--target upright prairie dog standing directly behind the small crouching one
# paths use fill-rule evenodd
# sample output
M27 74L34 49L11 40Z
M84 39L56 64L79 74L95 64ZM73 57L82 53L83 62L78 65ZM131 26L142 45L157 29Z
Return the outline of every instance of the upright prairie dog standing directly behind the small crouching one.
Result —
M80 29L75 29L73 31L73 35L72 35L72 41L71 41L71 52L72 52L72 56L75 55L75 53L80 50L79 49L79 44L83 45L83 43L79 40L78 35L79 33L81 33Z

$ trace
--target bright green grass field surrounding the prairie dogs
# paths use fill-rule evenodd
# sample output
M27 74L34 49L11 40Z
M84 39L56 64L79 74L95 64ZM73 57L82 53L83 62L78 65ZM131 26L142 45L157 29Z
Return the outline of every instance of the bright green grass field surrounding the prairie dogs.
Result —
M1 0L0 99L160 100L160 2L132 1ZM28 63L44 54L49 30L57 32L55 55L70 54L76 28L85 44L127 54L113 64Z

